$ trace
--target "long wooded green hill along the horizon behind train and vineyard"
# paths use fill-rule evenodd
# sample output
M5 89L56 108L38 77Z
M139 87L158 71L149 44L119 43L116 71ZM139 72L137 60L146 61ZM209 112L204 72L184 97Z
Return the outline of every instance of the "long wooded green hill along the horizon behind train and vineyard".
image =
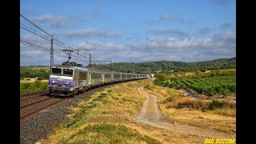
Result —
M110 70L110 64L92 65L96 69ZM236 57L218 58L204 62L176 62L176 61L157 61L157 62L116 62L111 64L111 70L129 73L148 73L154 71L193 71L193 70L220 70L235 69Z

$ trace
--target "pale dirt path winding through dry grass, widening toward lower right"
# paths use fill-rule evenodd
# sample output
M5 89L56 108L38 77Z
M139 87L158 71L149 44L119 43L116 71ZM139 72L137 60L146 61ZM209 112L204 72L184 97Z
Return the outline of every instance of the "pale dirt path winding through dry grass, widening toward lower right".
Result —
M143 90L143 86L138 88L138 91L146 95L146 101L142 106L142 111L135 119L140 122L146 122L151 126L166 130L174 130L186 134L198 135L206 138L235 138L235 134L224 133L216 130L206 130L195 126L179 125L176 123L166 122L162 117L161 111L158 109L157 97L153 94L148 94Z

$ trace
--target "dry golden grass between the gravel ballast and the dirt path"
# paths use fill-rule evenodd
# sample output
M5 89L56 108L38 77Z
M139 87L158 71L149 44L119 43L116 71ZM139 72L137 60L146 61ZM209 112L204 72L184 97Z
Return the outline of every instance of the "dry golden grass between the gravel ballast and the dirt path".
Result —
M205 138L163 130L137 122L145 96L141 80L111 86L70 107L69 122L42 143L202 143Z

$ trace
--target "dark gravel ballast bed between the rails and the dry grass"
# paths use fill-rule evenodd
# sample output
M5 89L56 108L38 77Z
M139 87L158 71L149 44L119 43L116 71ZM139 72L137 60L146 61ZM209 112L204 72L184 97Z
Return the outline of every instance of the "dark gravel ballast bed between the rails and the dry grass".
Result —
M81 99L88 98L95 92L114 85L116 84L85 91L82 94L75 95L74 98L69 98L66 102L62 102L57 106L43 110L41 113L26 119L26 121L20 122L20 143L34 144L42 139L46 139L47 134L50 134L54 127L69 120L69 118L66 117L66 114L70 114L66 109L67 107L77 106L77 102Z

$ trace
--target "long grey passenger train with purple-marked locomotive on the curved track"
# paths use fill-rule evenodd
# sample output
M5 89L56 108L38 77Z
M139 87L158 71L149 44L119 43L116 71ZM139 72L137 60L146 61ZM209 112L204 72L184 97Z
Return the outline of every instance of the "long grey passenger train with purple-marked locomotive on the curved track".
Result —
M48 90L54 96L74 96L96 86L145 78L149 78L149 75L54 65L50 69Z

